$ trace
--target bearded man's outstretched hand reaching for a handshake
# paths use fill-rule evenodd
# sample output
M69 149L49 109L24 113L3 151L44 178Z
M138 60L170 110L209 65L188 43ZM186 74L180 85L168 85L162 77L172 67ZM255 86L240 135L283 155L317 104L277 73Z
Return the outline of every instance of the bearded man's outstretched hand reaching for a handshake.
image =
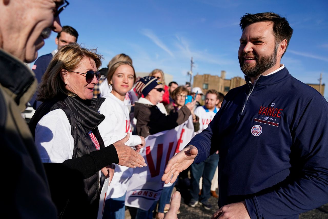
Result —
M188 166L190 166L194 162L197 153L197 148L193 145L189 145L188 147L184 148L182 151L174 155L173 158L169 160L164 170L162 181L165 181L166 184L168 184L169 182L174 183L179 173L187 169ZM171 179L172 175L173 178Z

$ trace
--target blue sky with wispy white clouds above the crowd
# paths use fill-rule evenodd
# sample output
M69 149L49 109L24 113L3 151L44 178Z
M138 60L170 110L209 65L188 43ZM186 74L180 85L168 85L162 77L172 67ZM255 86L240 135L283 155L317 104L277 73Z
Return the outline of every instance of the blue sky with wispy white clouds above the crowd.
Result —
M201 1L201 0L70 0L60 14L61 24L74 27L78 43L98 48L106 66L111 58L125 53L137 72L155 68L174 76L179 84L188 81L190 58L194 74L243 77L237 51L239 19L247 13L272 11L285 16L294 29L281 63L304 83L328 85L328 1ZM56 49L55 33L39 55ZM328 87L324 97L328 99Z

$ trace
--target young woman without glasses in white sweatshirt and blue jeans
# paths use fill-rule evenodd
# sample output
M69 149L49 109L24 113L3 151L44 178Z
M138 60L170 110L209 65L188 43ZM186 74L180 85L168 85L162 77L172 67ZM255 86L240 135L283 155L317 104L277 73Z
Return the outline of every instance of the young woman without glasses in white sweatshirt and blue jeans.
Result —
M112 91L103 96L105 101L98 112L105 116L98 128L105 145L116 142L130 133L130 139L125 144L135 147L137 151L145 146L145 138L132 135L130 112L125 105L126 94L132 89L136 80L133 65L128 61L113 63L108 71L107 83ZM133 170L126 166L115 165L115 174L108 187L103 218L124 219L125 195L132 177Z

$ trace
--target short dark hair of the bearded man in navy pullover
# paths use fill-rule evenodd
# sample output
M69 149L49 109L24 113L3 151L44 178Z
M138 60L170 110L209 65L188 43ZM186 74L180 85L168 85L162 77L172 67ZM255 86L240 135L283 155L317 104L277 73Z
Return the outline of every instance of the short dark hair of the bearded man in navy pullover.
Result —
M293 29L289 26L289 23L285 17L281 17L279 14L272 13L272 12L264 12L264 13L257 13L257 14L246 13L240 18L239 26L241 27L241 30L244 31L247 25L256 22L262 22L262 21L270 21L273 23L272 29L273 29L273 34L275 35L276 38L276 44L286 39L287 40L286 50L287 50L289 41L292 38Z

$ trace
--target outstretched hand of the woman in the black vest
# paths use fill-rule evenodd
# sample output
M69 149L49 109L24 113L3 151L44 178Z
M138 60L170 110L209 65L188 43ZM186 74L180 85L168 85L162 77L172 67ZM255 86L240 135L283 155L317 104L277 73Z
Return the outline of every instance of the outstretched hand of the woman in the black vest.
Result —
M131 147L125 145L125 142L127 142L130 138L130 134L127 133L127 135L113 143L117 156L118 156L118 165L121 166L127 166L127 167L143 167L147 166L145 163L145 159L135 150L133 150Z

